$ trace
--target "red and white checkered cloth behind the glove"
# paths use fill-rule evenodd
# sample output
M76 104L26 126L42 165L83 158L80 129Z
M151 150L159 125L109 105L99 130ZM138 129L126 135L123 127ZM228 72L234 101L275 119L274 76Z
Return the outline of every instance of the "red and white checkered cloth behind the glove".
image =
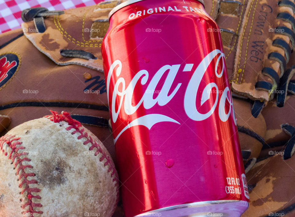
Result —
M45 7L48 10L65 10L95 5L103 0L0 0L0 33L21 27L22 10Z

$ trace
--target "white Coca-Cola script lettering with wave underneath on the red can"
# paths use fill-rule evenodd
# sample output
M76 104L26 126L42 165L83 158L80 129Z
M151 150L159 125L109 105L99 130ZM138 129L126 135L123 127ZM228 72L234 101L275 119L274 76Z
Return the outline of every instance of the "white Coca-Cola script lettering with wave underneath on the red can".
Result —
M219 56L218 56L219 55ZM201 80L209 66L209 64L212 62L214 58L217 58L215 61L215 76L217 78L221 78L223 75L223 72L225 71L225 55L220 50L216 49L210 52L205 58L201 61L201 63L196 68L195 72L191 76L191 79L189 83L187 84L186 91L184 94L184 110L185 113L189 118L191 118L194 121L202 121L207 118L209 118L214 111L217 108L218 105L218 115L221 121L226 122L228 118L230 117L231 112L233 112L233 101L230 95L230 88L225 87L224 90L218 90L218 86L216 83L211 82L206 85L206 87L202 91L202 98L201 98L201 105L205 103L208 99L210 99L210 93L214 89L216 92L222 93L220 99L218 94L215 97L214 104L210 108L208 112L205 114L200 113L198 108L196 107L196 97L199 90L199 86L201 83ZM220 61L222 61L220 63ZM222 65L222 69L218 70L219 63ZM136 73L136 75L133 77L131 82L127 85L125 82L125 79L123 77L120 77L121 71L122 71L122 63L120 60L116 60L113 62L113 64L110 66L108 77L107 77L107 94L108 94L108 102L109 106L111 107L112 114L111 118L114 123L116 123L117 118L122 110L122 106L124 105L124 112L127 115L131 115L136 112L136 110L143 105L145 109L150 109L156 105L156 103L159 104L159 106L164 106L167 103L170 102L170 100L175 96L177 91L179 90L180 86L183 85L182 83L178 83L177 86L171 90L172 83L175 81L175 76L177 72L179 71L180 64L177 65L164 65L161 67L151 78L150 82L148 82L149 73L147 70L140 70ZM168 71L169 70L169 71ZM154 92L153 91L147 91L147 90L155 90L160 79L164 75L165 72L168 71L168 75L166 77L166 80L163 83L163 86L161 90L159 91L158 96L153 99ZM219 74L218 74L219 72ZM110 100L110 81L111 79L115 79L116 83L113 87L113 92L111 93L112 99ZM144 94L140 101L133 106L132 105L132 96L134 94L134 88L138 84L141 85L148 85L146 91L144 91ZM120 88L119 88L120 87ZM171 93L168 95L168 93ZM118 97L119 96L119 97ZM116 102L116 99L119 98L119 101ZM219 102L219 103L218 103ZM226 102L230 105L229 110L226 110ZM116 109L116 104L118 104ZM130 122L127 126L125 126L120 133L117 135L117 137L114 139L114 142L116 143L117 139L120 137L120 135L127 130L128 128L136 125L143 125L148 127L148 129L151 129L153 125L159 122L174 122L176 124L180 124L175 119L168 117L163 114L147 114L143 115L142 117L136 118L132 122ZM234 117L234 123L236 124L236 118Z

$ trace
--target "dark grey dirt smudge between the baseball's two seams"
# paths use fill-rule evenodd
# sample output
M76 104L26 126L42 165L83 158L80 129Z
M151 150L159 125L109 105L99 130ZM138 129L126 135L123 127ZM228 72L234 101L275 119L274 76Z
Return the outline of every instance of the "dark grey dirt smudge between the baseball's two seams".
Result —
M42 170L36 174L36 180L43 186L53 189L56 186L65 184L68 179L65 176L65 171L69 170L69 164L65 161L58 159L57 161L45 160L42 162L44 166Z

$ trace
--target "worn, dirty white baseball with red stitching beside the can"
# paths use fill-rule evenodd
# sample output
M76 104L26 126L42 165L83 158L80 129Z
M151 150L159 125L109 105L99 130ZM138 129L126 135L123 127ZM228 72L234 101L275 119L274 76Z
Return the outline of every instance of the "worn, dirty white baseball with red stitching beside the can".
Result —
M112 216L119 181L107 149L52 113L0 138L0 216Z

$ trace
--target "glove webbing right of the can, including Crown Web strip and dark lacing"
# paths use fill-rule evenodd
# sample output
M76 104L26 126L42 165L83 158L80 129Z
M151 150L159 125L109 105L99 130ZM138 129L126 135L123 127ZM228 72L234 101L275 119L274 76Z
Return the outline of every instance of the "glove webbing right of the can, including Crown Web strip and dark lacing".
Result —
M257 117L274 97L295 40L291 0L220 2L217 23L226 55L232 92L254 101Z

